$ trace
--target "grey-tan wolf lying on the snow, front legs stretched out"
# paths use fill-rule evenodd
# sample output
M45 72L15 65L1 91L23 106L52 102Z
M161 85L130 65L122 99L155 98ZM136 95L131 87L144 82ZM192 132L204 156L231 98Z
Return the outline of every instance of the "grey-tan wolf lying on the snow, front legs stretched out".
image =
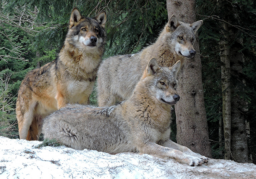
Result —
M111 107L66 105L44 119L44 138L78 150L147 153L190 166L206 163L208 158L170 140L171 105L180 99L175 90L180 66L178 61L160 67L152 58L126 101Z

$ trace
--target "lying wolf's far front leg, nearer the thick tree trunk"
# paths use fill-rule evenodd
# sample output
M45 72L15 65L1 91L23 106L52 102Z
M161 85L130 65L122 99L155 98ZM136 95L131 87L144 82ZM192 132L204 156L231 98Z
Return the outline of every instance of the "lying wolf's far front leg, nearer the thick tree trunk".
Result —
M175 149L175 150L179 150L183 153L186 153L188 155L192 155L192 156L195 156L195 157L200 157L200 158L203 158L204 159L204 163L207 163L209 158L207 157L204 157L202 155L200 155L199 153L195 153L193 152L192 150L188 149L188 147L185 147L185 146L182 146L182 145L179 145L173 141L171 141L170 139L168 140L165 140L165 141L160 141L159 142L159 145L162 145L164 147L168 147L170 149Z

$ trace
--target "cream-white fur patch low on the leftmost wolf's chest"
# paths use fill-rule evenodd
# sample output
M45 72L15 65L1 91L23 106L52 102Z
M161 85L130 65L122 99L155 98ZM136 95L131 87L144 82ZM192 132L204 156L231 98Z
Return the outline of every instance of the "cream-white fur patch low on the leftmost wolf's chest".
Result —
M76 103L81 102L83 99L89 97L91 91L93 89L94 82L90 82L87 80L70 80L69 85L67 87L69 102ZM87 102L83 101L82 103Z

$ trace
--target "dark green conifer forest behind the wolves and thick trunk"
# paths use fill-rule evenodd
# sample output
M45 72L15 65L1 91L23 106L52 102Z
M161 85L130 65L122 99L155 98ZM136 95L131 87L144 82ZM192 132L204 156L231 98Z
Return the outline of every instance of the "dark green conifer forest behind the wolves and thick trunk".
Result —
M29 70L56 58L74 7L89 17L107 11L107 45L103 59L136 53L154 43L168 21L165 0L9 0L0 3L0 136L9 138L18 138L15 103L19 85ZM204 21L198 34L212 157L224 158L225 154L221 54L228 48L231 66L228 89L231 99L236 99L231 107L239 111L238 123L245 126L240 133L246 134L243 145L247 146L243 148L248 150L248 161L256 163L256 3L253 0L196 0L195 13L198 20ZM96 95L94 91L91 96L94 105L97 105ZM175 141L175 116L173 124L172 140ZM237 128L233 125L231 133ZM233 141L236 139L231 137Z

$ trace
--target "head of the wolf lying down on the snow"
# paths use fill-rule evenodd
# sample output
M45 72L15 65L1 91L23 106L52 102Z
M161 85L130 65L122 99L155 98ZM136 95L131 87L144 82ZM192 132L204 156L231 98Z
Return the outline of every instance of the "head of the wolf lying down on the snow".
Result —
M172 67L160 67L155 58L148 62L142 81L146 82L146 88L149 88L157 101L174 105L180 100L176 91L176 78L180 66L180 61L177 61Z

